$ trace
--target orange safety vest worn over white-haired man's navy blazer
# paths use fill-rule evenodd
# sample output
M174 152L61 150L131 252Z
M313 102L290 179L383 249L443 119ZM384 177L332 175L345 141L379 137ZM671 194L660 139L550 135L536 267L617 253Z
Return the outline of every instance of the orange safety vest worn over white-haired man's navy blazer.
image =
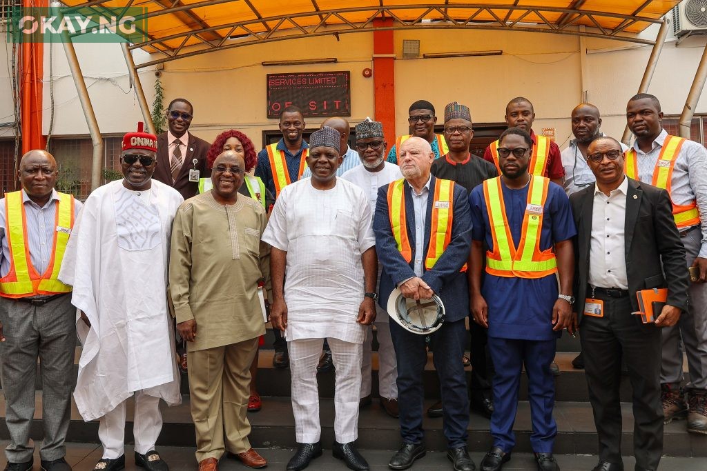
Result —
M388 186L388 213L390 227L397 249L407 263L412 260L412 247L407 235L407 215L404 198L405 179L393 181ZM430 242L425 256L425 268L431 270L444 253L452 239L452 217L454 215L454 185L451 180L436 179L431 214ZM466 264L462 271L467 269Z

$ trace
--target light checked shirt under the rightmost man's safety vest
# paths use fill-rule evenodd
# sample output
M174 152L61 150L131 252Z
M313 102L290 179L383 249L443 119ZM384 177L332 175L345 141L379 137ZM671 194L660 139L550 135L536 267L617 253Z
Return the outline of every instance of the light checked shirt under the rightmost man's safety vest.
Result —
M633 143L638 160L638 180L653 184L653 170L665 138L667 131L663 129L653 141L648 153L638 148L638 142ZM703 145L689 139L682 144L675 159L670 185L670 199L673 204L688 205L697 201L702 229L702 247L698 256L707 258L707 149Z

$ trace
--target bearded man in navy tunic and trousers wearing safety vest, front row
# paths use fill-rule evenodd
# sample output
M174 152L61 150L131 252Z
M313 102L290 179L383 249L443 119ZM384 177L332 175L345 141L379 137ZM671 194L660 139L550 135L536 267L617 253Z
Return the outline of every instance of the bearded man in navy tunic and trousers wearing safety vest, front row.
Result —
M532 175L532 138L513 127L498 145L501 177L472 190L469 290L474 321L489 329L493 376L493 445L481 470L498 471L515 446L520 372L525 366L532 418L530 444L539 471L557 471L557 425L550 364L563 329L573 333L572 238L577 233L561 186ZM483 285L484 244L486 267ZM558 283L559 278L559 283ZM559 286L558 286L559 285Z

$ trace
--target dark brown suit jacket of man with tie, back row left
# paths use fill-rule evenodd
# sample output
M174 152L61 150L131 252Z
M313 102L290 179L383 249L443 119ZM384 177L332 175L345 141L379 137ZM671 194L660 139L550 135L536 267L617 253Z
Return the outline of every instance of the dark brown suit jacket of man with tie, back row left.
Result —
M199 177L209 177L211 170L206 167L206 154L209 153L211 144L204 139L197 138L189 133L189 145L187 145L187 155L184 157L184 165L180 169L177 180L172 182L172 172L170 172L170 161L172 156L169 153L170 143L167 142L167 133L157 136L157 167L152 178L161 181L165 185L172 186L186 199L196 196L199 193L199 183L189 181L189 169L199 170ZM197 164L192 162L197 159Z

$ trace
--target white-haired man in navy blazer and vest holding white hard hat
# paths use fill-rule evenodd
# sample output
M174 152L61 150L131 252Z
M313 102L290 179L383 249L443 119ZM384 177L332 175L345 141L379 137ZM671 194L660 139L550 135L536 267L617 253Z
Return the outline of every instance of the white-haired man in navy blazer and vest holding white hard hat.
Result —
M467 452L469 400L464 366L469 296L465 262L471 243L467 191L430 174L430 144L411 137L400 145L404 179L378 190L373 231L382 265L380 306L393 319L398 406L403 445L388 466L407 469L425 454L422 374L430 336L439 375L448 458L457 471L476 468ZM390 307L389 307L390 306Z

